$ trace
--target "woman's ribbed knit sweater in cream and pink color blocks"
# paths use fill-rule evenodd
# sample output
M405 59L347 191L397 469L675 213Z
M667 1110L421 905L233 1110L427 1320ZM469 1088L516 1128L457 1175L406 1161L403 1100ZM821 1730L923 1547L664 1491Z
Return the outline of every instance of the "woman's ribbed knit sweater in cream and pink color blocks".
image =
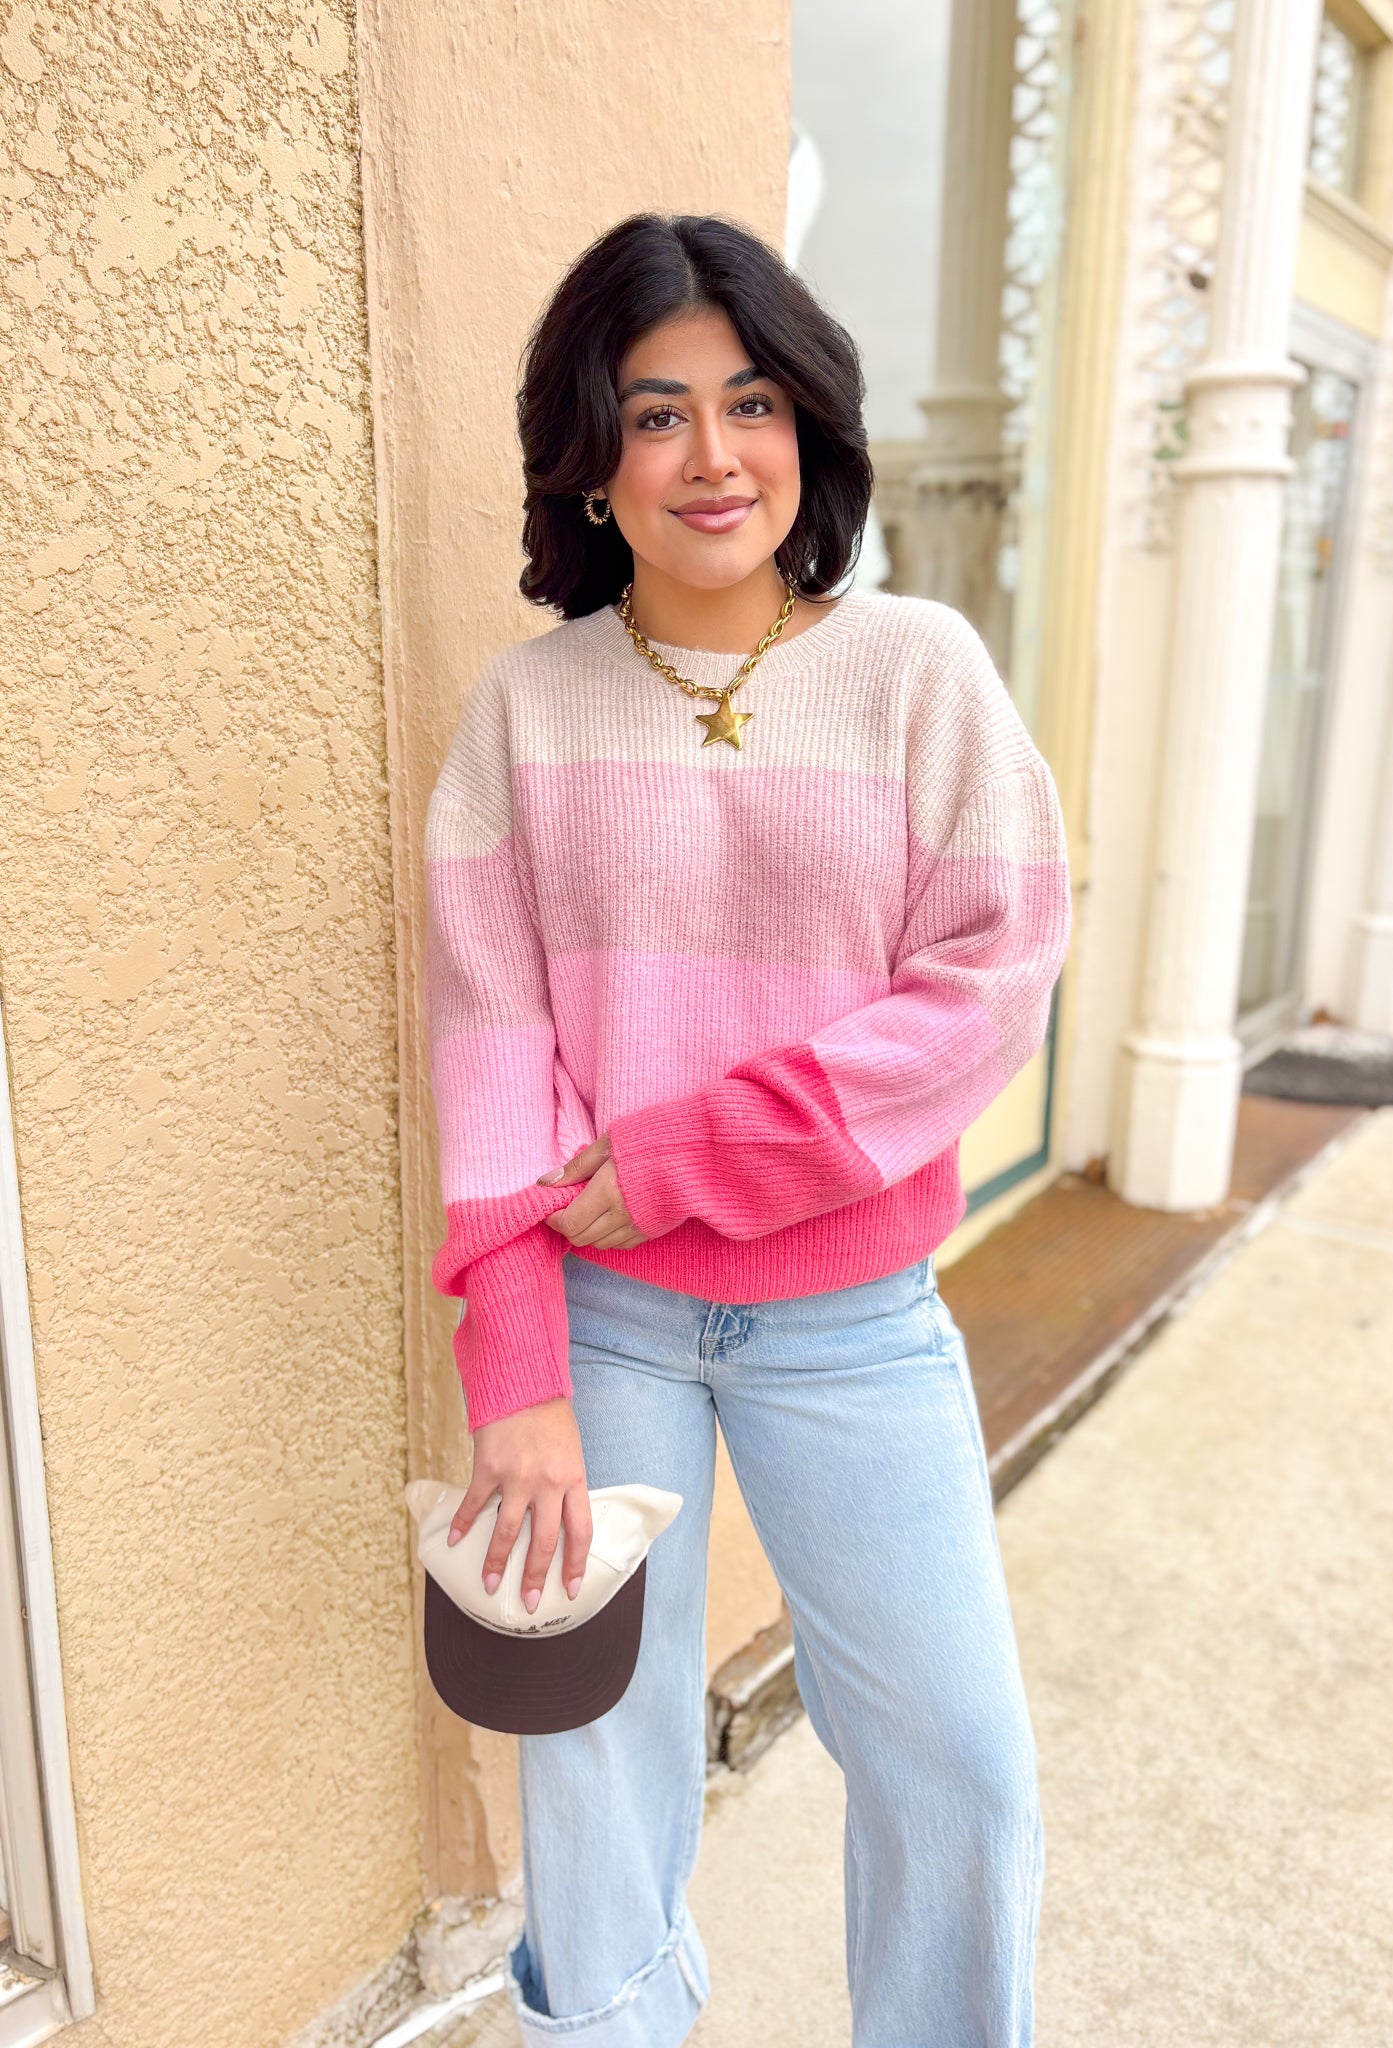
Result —
M740 655L653 641L725 684ZM1045 1036L1055 784L946 604L852 590L733 698L740 750L604 606L479 674L426 821L426 1008L469 1427L569 1395L567 1251L707 1300L897 1272ZM645 1243L539 1188L608 1133Z

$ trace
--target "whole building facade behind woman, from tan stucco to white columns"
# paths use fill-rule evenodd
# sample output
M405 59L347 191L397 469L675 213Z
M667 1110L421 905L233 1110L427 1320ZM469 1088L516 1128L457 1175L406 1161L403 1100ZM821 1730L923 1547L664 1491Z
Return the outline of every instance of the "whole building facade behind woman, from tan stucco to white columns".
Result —
M869 377L858 578L959 604L1075 940L942 1264L1227 1190L1246 1063L1393 1032L1393 6L10 6L0 2044L371 2042L518 1911L418 1663L467 1475L420 829L516 596L584 242L731 213ZM641 92L625 84L641 76ZM729 1466L709 1661L778 1614Z

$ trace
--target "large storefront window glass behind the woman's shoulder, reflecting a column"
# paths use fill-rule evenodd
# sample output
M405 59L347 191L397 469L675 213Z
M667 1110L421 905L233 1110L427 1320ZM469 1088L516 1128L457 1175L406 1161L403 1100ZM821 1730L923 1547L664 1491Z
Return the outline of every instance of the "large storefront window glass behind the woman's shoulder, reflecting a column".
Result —
M1073 0L793 6L787 256L862 350L856 582L957 606L1028 727L1071 55ZM963 1135L971 1208L1049 1163L1053 1042Z

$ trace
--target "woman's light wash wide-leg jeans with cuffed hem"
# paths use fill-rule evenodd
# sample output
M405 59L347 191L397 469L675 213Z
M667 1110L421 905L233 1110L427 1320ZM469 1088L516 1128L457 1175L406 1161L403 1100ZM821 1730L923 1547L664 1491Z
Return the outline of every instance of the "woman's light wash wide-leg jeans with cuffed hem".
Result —
M705 1759L717 1419L793 1616L795 1675L846 1776L852 2048L1028 2048L1043 1876L1035 1737L963 1339L932 1257L731 1305L569 1253L592 1487L684 1505L647 1554L617 1706L520 1737L529 2048L676 2048L711 1993L686 1909ZM766 1884L778 1884L770 1843ZM758 1917L762 1901L748 1911Z

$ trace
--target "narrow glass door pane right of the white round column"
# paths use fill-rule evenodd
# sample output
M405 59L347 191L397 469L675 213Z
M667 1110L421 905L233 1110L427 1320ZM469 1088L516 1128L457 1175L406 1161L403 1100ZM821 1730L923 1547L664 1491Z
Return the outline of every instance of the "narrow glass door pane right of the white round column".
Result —
M1293 395L1272 657L1248 870L1237 1030L1262 1044L1301 1008L1315 764L1336 659L1344 532L1360 383L1301 346ZM1307 338L1309 340L1309 338Z

